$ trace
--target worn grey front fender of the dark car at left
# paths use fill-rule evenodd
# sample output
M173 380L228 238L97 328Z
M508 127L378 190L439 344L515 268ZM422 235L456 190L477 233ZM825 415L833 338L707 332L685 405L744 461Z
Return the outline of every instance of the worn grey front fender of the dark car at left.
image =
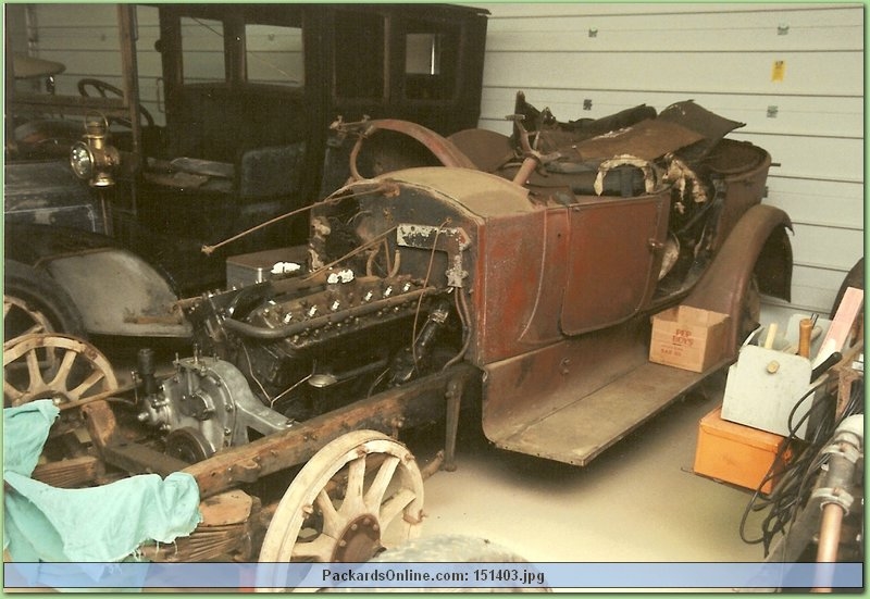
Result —
M140 257L122 248L96 248L42 258L72 298L91 335L189 337L170 283Z

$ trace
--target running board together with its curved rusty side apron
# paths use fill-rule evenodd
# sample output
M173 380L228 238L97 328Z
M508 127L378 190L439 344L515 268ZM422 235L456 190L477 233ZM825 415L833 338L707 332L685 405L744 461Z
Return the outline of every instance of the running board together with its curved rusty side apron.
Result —
M502 449L586 465L705 373L649 363L638 316L486 367L483 429Z

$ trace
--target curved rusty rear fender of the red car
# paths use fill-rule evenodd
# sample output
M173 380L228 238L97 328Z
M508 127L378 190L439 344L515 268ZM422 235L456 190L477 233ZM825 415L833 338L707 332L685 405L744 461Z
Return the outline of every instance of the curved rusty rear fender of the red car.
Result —
M784 211L751 207L683 302L731 315L729 354L736 354L739 346L743 301L753 275L762 294L791 300L792 245L786 228L792 229L792 222Z

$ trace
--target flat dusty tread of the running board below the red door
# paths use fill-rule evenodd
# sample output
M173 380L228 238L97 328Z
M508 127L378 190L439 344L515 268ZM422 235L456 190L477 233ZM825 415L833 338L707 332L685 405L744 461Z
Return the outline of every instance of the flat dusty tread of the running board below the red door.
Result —
M585 466L724 364L699 374L647 362L504 438L489 440L502 449Z

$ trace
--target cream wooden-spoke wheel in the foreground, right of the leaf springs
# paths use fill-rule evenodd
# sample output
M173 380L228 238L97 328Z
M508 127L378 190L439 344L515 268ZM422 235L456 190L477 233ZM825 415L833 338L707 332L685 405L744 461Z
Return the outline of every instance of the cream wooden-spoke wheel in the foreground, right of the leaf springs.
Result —
M411 452L374 430L349 433L323 447L294 478L260 561L366 561L417 537L422 509L423 477Z

